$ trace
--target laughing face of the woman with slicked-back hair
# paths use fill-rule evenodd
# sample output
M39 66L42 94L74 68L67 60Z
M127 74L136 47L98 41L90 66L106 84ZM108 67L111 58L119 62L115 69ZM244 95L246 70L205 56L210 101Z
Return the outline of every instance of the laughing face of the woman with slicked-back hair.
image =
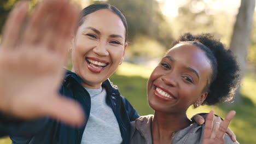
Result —
M85 16L72 46L73 71L88 88L100 88L123 61L125 27L120 17L108 9Z

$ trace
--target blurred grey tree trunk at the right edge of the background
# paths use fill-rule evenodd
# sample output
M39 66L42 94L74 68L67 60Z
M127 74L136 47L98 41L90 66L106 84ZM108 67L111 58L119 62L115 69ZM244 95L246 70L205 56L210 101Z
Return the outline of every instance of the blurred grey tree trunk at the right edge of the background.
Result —
M241 69L241 78L245 74L247 50L251 41L251 31L253 25L253 13L255 8L255 0L241 0L236 23L230 42L230 50L237 57L237 62ZM236 103L241 103L240 87L236 91Z

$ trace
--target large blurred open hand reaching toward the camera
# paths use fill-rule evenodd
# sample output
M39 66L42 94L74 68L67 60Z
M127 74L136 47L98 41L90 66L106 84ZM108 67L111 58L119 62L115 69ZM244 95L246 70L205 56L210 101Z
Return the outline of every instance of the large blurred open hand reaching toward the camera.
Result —
M65 0L43 0L24 29L27 8L28 2L19 2L5 23L0 110L24 119L49 116L80 125L84 121L80 105L59 95L78 11Z

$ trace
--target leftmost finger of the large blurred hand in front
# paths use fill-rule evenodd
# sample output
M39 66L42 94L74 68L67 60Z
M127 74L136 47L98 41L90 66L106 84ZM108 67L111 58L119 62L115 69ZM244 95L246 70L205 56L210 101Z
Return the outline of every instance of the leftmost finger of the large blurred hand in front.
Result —
M28 8L27 1L18 2L11 11L3 31L3 49L11 50L18 43L19 32L25 20Z

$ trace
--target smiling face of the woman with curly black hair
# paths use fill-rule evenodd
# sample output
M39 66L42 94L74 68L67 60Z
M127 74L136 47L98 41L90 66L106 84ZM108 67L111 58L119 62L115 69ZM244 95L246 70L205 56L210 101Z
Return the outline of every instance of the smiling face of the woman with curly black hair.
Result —
M185 112L207 96L203 89L212 68L205 53L194 45L177 44L170 49L148 80L148 101L155 111Z

